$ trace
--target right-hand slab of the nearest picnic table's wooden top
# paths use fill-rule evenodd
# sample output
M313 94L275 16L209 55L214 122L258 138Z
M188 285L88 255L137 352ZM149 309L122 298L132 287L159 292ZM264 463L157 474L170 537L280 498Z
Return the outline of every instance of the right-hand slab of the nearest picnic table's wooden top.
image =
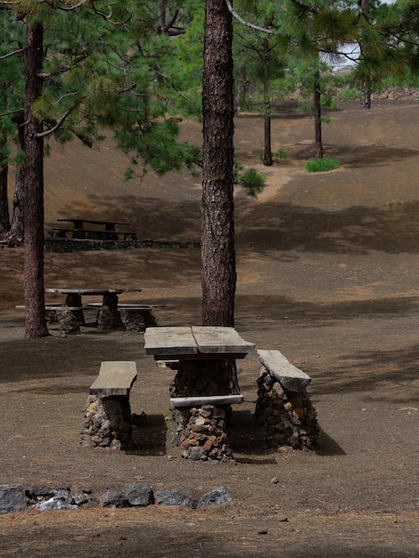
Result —
M201 353L250 353L254 343L244 341L234 327L195 326L192 328Z

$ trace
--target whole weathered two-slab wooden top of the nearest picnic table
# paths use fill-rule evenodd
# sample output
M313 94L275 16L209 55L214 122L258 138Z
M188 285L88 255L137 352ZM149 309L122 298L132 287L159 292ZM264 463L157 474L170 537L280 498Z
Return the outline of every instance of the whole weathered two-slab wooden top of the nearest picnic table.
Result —
M154 355L156 360L164 360L168 356L242 358L254 347L254 343L244 341L234 327L149 327L144 333L145 352Z

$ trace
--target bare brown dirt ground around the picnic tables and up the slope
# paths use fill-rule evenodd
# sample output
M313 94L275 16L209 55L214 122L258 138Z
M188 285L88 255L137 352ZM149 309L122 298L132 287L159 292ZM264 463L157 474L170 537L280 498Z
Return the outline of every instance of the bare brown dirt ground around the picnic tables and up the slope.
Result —
M224 486L231 504L195 510L79 509L0 517L0 556L419 556L419 107L349 103L324 127L333 172L308 174L313 121L291 104L273 123L274 150L257 200L235 194L236 328L280 349L312 377L322 429L314 452L263 447L252 420L259 361L238 363L234 456L189 462L170 447L172 372L144 354L142 334L97 332L24 340L21 249L0 249L0 483L86 488L133 482L200 497ZM185 122L185 137L200 140ZM262 168L262 122L236 121L236 154ZM198 176L148 173L122 182L127 158L53 146L45 162L45 226L61 217L130 221L140 239L197 241ZM46 287L141 288L121 300L166 305L160 325L201 321L197 249L45 253ZM48 298L60 300L59 297ZM95 300L96 301L96 300ZM144 412L136 454L79 444L88 386L102 360L135 360L131 405Z

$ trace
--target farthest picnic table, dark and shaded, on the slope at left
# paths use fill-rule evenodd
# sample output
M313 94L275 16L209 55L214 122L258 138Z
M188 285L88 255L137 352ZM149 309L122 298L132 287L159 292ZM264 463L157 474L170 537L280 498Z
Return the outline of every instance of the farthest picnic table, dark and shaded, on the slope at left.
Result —
M124 240L127 240L127 237L133 238L135 240L136 233L127 232L127 231L118 231L117 226L127 226L130 225L127 222L123 221L111 221L111 220L96 220L96 219L87 219L87 218L80 218L80 217L69 217L69 218L61 218L57 219L59 222L68 222L72 223L72 228L60 228L55 227L52 230L53 236L59 238L66 238L67 233L71 234L72 238L91 238L91 239L99 239L99 240L118 240L119 234L121 234ZM86 229L85 224L90 224L94 226L104 226L104 228L91 230Z

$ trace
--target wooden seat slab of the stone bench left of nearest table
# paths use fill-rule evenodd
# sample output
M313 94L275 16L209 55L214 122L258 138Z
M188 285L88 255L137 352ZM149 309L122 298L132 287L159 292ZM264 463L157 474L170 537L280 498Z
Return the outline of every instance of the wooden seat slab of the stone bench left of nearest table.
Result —
M102 397L128 395L135 381L135 362L127 360L103 361L99 376L90 386L89 393Z

